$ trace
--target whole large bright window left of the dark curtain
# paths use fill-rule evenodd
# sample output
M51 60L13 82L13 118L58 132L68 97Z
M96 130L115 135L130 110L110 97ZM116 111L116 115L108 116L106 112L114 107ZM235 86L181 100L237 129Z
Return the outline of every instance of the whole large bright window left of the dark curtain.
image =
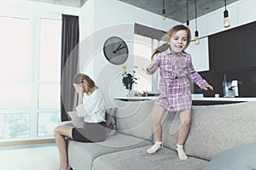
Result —
M52 136L61 122L61 20L0 17L0 37L0 141Z

